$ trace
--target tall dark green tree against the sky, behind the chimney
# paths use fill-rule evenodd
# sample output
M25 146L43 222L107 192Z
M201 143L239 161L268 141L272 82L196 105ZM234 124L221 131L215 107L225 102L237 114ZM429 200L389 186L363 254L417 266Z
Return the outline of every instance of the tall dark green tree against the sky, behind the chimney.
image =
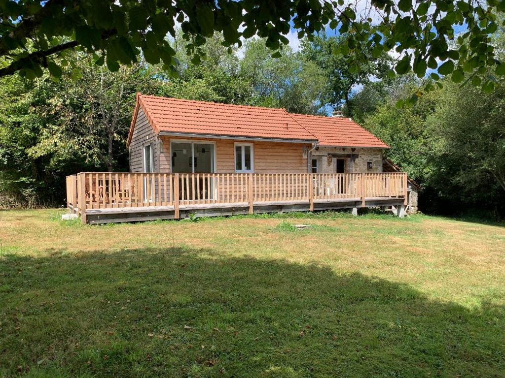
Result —
M370 83L374 77L383 79L391 69L391 57L381 52L373 56L366 51L367 61L359 67L349 66L347 58L338 52L338 47L346 39L345 36L328 37L325 32L315 36L312 40L301 42L301 53L310 61L315 62L328 78L328 93L324 102L332 108L340 108L342 102L348 116L353 115L351 96L356 86Z

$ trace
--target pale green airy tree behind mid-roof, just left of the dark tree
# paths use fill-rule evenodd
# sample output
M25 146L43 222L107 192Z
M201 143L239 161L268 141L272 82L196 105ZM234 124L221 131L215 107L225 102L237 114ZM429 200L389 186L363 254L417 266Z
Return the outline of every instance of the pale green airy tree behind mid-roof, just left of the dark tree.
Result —
M256 105L307 114L318 113L324 105L323 71L289 47L284 48L284 54L273 57L265 40L247 41L240 76L254 88Z

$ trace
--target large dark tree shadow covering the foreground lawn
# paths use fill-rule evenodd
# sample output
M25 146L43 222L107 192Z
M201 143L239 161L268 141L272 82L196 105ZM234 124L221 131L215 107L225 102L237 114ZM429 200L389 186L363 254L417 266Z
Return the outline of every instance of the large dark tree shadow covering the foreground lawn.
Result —
M0 259L0 376L503 376L505 309L211 250Z

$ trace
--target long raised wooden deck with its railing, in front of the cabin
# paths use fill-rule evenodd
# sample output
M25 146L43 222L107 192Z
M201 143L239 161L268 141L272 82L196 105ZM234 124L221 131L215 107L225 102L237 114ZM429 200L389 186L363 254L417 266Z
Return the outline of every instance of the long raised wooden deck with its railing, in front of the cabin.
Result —
M82 223L405 206L406 173L110 173L67 176ZM402 213L401 213L402 214ZM400 213L399 213L400 215Z

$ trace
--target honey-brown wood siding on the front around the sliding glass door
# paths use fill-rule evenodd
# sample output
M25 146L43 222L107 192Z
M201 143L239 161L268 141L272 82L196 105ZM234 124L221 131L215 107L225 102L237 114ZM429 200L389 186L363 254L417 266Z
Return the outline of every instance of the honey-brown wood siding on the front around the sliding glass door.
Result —
M235 172L235 143L250 143L253 145L255 173L307 173L308 160L303 157L304 146L308 149L311 145L302 143L282 142L248 142L229 139L208 138L171 138L162 137L163 147L160 154L160 173L170 173L170 141L192 140L211 141L216 143L216 172Z

